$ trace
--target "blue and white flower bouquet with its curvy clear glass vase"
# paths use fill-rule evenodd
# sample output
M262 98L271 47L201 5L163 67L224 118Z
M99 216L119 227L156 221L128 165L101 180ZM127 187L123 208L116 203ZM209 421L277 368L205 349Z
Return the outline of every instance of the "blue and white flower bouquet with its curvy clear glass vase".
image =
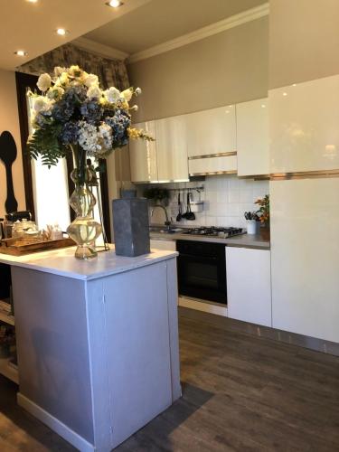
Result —
M129 107L128 102L141 89L103 90L98 76L79 66L56 67L54 77L42 74L37 87L42 94L29 92L33 134L28 140L28 151L35 159L40 156L42 165L49 167L72 153L75 191L70 203L77 218L67 231L78 244L75 256L89 259L97 255L93 243L101 227L92 216L96 200L89 189L87 157L106 158L114 149L126 146L129 138L153 139L143 130L131 127L130 112L137 106Z

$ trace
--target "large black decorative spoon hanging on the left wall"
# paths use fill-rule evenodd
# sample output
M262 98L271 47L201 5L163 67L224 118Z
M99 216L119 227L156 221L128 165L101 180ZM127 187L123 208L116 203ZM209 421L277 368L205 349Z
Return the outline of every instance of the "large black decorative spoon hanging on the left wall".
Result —
M14 137L11 132L5 130L0 136L0 161L5 165L7 196L5 200L5 211L16 212L18 203L14 195L12 165L17 156Z

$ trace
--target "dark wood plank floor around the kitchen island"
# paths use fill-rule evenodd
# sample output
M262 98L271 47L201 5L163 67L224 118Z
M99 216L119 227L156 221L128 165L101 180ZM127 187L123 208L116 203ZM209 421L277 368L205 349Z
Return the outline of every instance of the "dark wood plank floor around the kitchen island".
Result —
M118 452L339 451L339 358L181 315L183 398ZM74 450L0 379L0 451Z

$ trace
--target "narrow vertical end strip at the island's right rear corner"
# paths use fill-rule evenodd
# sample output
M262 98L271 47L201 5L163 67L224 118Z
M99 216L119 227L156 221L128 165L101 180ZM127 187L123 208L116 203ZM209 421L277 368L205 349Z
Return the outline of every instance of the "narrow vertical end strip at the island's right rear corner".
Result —
M172 400L179 399L182 395L180 384L180 358L179 358L179 324L178 324L178 283L176 271L176 259L168 259L167 263L167 301L168 322L171 351L171 379Z

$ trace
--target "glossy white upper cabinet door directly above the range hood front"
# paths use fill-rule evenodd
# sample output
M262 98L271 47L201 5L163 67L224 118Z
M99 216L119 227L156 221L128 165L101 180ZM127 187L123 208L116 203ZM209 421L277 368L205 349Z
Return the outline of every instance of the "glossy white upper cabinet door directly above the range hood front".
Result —
M235 106L185 115L188 156L220 154L236 150Z

